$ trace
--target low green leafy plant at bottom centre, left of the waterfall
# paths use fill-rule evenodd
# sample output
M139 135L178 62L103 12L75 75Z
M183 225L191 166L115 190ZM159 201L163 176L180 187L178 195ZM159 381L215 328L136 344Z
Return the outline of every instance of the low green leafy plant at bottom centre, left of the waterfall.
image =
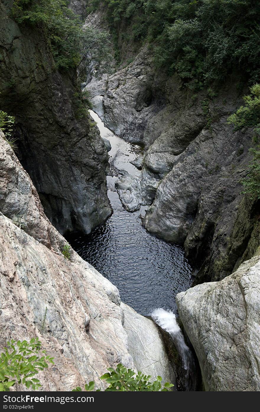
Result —
M154 382L150 382L151 376L144 375L142 372L134 372L131 369L125 368L122 363L119 363L116 369L108 368L110 373L105 373L100 377L104 379L109 386L105 389L105 392L120 391L120 392L166 392L169 391L174 385L166 382L162 384L161 376L157 376ZM91 381L85 385L85 391L93 391L94 382ZM81 387L77 386L72 391L82 391ZM100 389L97 389L100 391Z

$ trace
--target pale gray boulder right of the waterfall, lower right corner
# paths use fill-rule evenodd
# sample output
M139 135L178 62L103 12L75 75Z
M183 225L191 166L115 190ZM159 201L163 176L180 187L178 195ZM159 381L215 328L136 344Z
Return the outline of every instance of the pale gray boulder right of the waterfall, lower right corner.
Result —
M207 391L260 390L260 256L222 281L179 293L179 316Z

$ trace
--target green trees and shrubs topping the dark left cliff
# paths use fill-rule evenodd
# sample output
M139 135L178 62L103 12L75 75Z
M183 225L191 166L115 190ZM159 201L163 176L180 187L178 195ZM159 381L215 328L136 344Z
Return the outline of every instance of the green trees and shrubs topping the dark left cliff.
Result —
M15 0L12 14L17 23L38 26L44 33L58 69L79 68L90 61L109 61L108 33L82 28L66 0Z

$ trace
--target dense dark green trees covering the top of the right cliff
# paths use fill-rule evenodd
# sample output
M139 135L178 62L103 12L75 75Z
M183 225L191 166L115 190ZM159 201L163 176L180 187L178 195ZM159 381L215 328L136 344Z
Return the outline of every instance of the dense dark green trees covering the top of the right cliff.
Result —
M191 89L222 81L236 70L260 77L258 0L89 0L107 5L115 30L131 25L132 40L152 42L154 63L175 70Z

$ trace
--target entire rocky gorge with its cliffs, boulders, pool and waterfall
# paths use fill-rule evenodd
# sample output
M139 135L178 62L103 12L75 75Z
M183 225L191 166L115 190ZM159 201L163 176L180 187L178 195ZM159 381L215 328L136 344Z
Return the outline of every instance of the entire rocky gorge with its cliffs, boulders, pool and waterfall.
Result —
M174 391L259 391L260 199L242 183L254 127L227 122L248 84L234 70L195 93L131 22L111 26L106 2L73 0L111 55L79 82L13 5L0 4L16 138L0 131L0 349L39 337L46 391L104 389L117 363Z

